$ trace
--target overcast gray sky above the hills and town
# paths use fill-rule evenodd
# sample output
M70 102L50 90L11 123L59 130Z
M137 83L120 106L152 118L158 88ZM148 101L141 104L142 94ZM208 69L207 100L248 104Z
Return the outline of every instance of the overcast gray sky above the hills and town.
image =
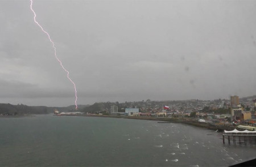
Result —
M39 1L78 104L255 95L256 1ZM0 102L74 105L30 1L0 1Z

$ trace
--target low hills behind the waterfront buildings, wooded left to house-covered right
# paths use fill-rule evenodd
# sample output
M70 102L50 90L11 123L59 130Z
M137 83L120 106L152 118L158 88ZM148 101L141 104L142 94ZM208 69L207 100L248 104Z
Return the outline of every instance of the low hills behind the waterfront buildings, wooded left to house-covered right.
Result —
M240 103L245 106L254 107L253 99L256 96L242 97ZM50 114L54 110L59 112L84 112L84 113L109 113L112 105L118 107L118 112L125 112L125 108L139 108L140 112L158 112L162 110L163 105L170 106L170 111L176 112L215 112L218 113L218 109L221 102L225 101L229 104L229 100L217 99L217 100L166 100L166 101L133 101L133 102L96 102L93 105L78 105L78 109L75 109L75 105L67 107L47 107L47 106L27 106L23 104L0 104L0 115L24 115L24 114ZM229 112L227 109L219 109L221 113Z

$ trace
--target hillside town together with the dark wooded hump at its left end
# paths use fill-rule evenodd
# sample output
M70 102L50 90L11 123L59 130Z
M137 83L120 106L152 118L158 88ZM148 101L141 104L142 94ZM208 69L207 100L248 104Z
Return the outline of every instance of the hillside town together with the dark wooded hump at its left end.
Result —
M127 115L133 117L193 118L214 125L250 125L256 123L255 97L230 96L229 100L184 100L95 103L84 108L87 115Z

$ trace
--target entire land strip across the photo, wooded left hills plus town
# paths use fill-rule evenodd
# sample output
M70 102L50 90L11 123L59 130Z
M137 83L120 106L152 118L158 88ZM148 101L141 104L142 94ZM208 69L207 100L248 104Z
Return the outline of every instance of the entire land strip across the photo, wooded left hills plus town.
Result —
M256 96L239 98L230 96L229 100L167 100L150 99L133 102L96 102L93 105L68 107L27 106L23 104L0 104L0 117L27 114L55 115L105 115L147 118L185 118L214 125L250 125L256 123Z

